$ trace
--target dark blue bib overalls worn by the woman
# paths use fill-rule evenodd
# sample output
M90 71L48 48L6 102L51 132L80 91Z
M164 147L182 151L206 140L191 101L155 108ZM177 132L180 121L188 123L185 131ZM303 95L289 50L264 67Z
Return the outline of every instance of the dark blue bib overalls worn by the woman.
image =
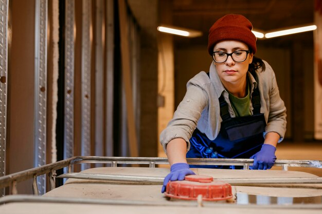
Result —
M209 75L209 74L208 74ZM252 94L253 115L231 118L228 104L219 98L220 116L222 118L220 132L216 139L209 140L207 136L195 129L190 138L190 150L187 158L250 158L261 149L264 143L264 114L260 113L260 94L258 87ZM234 166L190 165L198 168L238 168ZM242 168L242 167L239 167Z

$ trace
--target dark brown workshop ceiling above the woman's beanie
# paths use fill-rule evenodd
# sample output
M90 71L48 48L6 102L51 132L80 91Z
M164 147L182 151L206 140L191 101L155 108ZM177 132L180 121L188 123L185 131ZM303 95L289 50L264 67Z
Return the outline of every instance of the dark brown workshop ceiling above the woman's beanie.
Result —
M162 0L160 0L162 4ZM314 21L314 0L173 0L172 25L202 31L203 36L184 38L175 36L176 46L207 44L208 30L221 16L242 14L252 23L254 29L270 31L288 28ZM312 44L312 32L292 36L282 36L261 41L263 44L277 45L294 40L303 44Z

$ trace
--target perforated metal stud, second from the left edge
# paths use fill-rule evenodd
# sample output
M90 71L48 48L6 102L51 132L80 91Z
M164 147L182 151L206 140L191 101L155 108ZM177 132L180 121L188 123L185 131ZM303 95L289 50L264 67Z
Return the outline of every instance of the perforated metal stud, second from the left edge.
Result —
M34 167L46 164L46 102L47 102L47 1L35 2L34 59ZM46 192L46 177L37 178L39 193Z

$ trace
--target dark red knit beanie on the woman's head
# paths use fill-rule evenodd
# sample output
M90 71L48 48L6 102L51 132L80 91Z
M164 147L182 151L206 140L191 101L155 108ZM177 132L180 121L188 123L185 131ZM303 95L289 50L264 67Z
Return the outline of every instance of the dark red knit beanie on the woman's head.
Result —
M215 22L208 36L208 52L212 55L213 47L223 40L237 40L245 43L256 52L256 36L252 32L253 25L243 15L228 14Z

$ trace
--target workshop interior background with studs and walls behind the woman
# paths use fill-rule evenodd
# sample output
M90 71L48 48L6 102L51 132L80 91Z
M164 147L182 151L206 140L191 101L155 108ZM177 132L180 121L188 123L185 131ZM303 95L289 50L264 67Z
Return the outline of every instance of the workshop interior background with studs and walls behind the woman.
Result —
M2 0L0 176L76 155L165 157L159 133L182 100L187 81L208 71L207 36L214 21L236 13L259 31L288 29L317 22L319 4ZM202 35L165 34L157 31L159 25ZM278 158L321 160L316 31L257 42L256 55L273 67L287 106L287 134L278 145ZM30 182L20 183L19 192L30 193ZM45 179L39 183L45 192Z

